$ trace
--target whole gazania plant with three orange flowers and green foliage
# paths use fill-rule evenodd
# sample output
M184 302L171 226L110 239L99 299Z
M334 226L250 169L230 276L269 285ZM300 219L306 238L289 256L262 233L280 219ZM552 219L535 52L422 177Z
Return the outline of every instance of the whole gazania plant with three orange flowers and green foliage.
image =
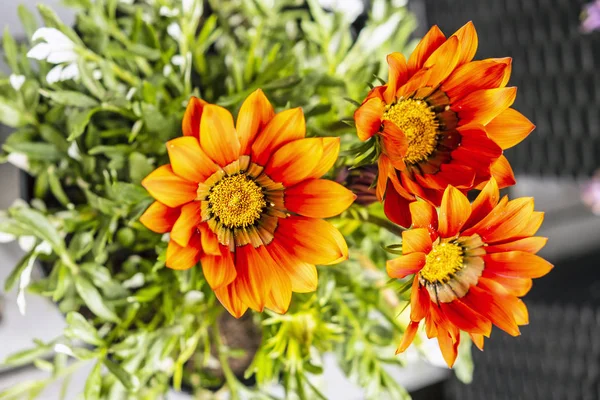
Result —
M469 379L470 341L528 322L543 214L499 189L534 127L471 23L407 60L414 19L383 0L355 23L314 0L69 3L75 29L21 8L30 43L4 36L2 157L33 177L0 220L33 243L5 286L67 327L5 361L51 376L0 398L85 365L86 400L325 398L325 353L405 398L385 367L411 343Z

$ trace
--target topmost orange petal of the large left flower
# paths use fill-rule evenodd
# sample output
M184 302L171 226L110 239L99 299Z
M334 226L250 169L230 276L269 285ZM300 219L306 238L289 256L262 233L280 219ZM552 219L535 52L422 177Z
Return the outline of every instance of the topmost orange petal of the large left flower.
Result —
M255 90L244 100L235 124L240 140L240 154L250 154L254 139L274 116L273 106L262 90Z

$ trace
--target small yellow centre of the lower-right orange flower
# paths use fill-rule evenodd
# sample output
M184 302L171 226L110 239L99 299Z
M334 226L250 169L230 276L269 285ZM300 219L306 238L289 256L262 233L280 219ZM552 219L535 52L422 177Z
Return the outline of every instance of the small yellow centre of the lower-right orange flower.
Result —
M429 282L447 282L463 268L463 248L456 243L439 243L427 254L425 266L419 272Z

